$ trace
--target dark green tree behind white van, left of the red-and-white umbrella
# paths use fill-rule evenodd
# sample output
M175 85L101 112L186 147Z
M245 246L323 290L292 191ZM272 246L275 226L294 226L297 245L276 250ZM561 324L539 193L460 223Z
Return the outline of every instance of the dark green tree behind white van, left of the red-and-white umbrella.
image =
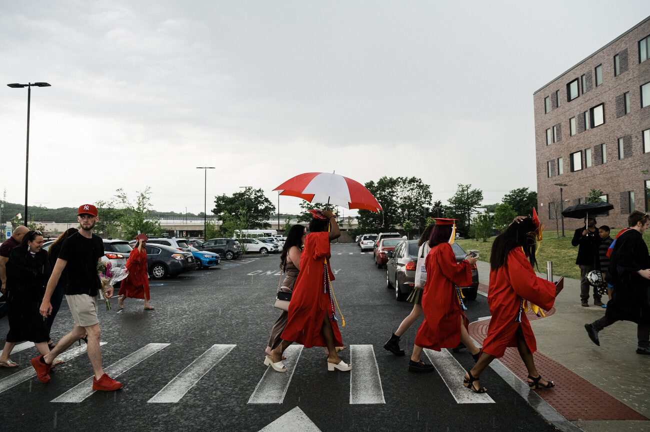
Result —
M244 229L265 229L271 224L266 222L276 211L276 207L268 199L264 190L246 188L241 192L235 192L231 196L226 194L214 197L214 214L222 213L224 220L226 215L235 216L244 222Z

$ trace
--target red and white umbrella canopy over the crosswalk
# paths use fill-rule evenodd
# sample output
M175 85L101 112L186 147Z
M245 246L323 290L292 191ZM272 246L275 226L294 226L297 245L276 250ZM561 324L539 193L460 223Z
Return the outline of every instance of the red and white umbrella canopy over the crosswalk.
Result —
M280 195L295 196L310 203L330 203L346 209L379 212L382 206L358 181L334 173L304 173L280 184Z

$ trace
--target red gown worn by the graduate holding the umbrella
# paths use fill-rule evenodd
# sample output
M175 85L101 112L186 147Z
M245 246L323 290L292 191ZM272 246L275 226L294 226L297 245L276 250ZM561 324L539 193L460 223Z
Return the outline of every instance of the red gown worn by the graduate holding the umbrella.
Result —
M329 258L329 233L309 233L305 238L305 248L300 255L300 273L296 278L291 302L289 302L287 327L282 332L284 340L298 342L305 348L326 346L320 329L324 318L331 317L334 312L330 295L325 291L325 259L328 259L327 270L330 280L334 280ZM330 322L334 332L334 345L343 346L339 325L331 318Z

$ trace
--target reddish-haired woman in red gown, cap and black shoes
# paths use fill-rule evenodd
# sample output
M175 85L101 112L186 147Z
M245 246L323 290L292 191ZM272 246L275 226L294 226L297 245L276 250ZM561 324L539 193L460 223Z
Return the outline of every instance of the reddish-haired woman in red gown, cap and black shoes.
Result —
M424 321L415 336L415 346L409 361L411 372L433 372L434 366L420 360L422 348L440 351L441 348L456 348L463 342L473 356L480 349L467 333L469 321L461 305L460 289L457 286L472 284L471 265L478 257L467 257L456 264L456 254L449 243L454 233L454 220L435 218L426 255L426 283L422 294ZM475 357L478 359L478 357Z

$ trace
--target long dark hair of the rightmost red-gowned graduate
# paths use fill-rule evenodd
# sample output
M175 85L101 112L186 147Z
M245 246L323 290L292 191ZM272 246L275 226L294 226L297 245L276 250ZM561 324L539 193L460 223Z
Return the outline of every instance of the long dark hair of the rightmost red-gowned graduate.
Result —
M515 248L523 248L531 266L537 265L536 258L536 231L537 227L531 218L525 218L519 223L511 223L501 235L495 238L489 256L490 268L498 270L506 264L508 253Z

